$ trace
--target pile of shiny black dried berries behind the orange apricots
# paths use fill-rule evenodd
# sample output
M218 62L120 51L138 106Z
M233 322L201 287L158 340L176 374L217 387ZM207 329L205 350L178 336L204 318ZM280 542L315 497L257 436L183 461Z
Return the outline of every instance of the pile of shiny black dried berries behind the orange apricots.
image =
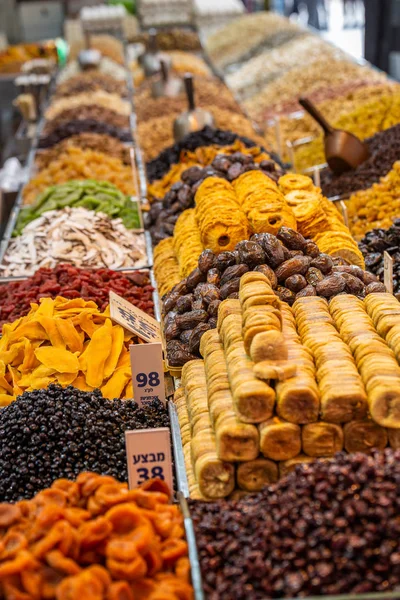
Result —
M31 498L82 471L127 481L124 432L168 426L158 401L139 408L72 386L25 392L0 411L0 501Z

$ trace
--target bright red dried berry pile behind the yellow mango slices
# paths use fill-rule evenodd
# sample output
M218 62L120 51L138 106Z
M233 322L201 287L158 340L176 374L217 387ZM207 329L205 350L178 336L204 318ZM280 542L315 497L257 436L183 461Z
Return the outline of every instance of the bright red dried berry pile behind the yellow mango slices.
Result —
M104 310L110 290L154 316L153 287L147 272L119 273L60 264L54 269L39 269L24 281L0 285L0 327L28 314L31 302L39 302L40 298L83 298L93 300Z

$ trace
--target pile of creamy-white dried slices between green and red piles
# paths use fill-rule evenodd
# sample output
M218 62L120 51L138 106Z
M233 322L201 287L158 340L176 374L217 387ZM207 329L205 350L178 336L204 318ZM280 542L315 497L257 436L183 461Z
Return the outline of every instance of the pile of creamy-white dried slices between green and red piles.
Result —
M147 263L142 234L126 229L121 219L85 208L44 213L10 242L0 270L4 276L33 275L40 267L65 261L77 267L110 269Z

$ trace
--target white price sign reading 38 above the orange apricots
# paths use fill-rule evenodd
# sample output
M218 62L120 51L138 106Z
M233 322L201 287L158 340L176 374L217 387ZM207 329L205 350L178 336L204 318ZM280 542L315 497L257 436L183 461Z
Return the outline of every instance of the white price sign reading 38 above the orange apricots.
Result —
M125 431L129 489L162 479L172 492L171 439L168 427Z

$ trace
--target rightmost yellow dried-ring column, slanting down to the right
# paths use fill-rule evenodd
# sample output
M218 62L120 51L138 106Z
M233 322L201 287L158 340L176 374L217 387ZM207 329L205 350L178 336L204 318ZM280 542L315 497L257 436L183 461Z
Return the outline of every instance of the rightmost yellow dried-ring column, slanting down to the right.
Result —
M340 213L309 177L284 175L278 185L293 210L297 229L304 237L312 238L321 252L341 256L364 268L363 255Z

